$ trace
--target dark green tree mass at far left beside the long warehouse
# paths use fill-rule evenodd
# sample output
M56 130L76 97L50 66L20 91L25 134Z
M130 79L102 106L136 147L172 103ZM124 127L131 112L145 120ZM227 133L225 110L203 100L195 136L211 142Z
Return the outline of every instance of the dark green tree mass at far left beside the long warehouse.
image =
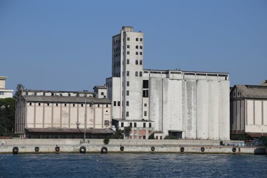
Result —
M0 134L14 133L15 108L16 100L14 98L0 99Z

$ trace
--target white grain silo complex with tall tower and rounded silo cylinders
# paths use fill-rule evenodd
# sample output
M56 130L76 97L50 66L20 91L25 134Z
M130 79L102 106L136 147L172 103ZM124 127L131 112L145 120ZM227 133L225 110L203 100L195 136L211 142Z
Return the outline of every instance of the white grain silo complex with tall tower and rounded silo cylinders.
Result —
M112 37L112 77L106 86L112 124L123 130L136 123L133 139L147 139L152 131L159 139L230 138L229 74L143 69L143 33L131 26Z

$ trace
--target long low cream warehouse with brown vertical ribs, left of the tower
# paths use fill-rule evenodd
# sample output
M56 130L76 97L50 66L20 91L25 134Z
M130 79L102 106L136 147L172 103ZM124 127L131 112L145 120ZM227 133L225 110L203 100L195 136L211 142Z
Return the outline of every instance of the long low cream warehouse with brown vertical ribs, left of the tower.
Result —
M21 138L83 138L85 126L86 138L112 135L107 88L95 86L94 91L21 89L16 103L15 133Z

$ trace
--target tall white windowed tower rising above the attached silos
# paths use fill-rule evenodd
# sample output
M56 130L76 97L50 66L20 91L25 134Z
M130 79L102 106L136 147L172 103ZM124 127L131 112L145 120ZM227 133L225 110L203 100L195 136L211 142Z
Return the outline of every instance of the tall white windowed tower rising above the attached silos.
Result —
M112 118L142 120L143 33L123 26L112 37L112 77L106 79Z

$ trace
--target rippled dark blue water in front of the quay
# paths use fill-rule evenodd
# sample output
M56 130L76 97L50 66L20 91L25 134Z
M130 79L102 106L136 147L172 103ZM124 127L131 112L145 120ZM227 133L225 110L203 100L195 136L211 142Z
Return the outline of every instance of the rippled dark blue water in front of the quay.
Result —
M0 177L267 177L267 156L0 154Z

